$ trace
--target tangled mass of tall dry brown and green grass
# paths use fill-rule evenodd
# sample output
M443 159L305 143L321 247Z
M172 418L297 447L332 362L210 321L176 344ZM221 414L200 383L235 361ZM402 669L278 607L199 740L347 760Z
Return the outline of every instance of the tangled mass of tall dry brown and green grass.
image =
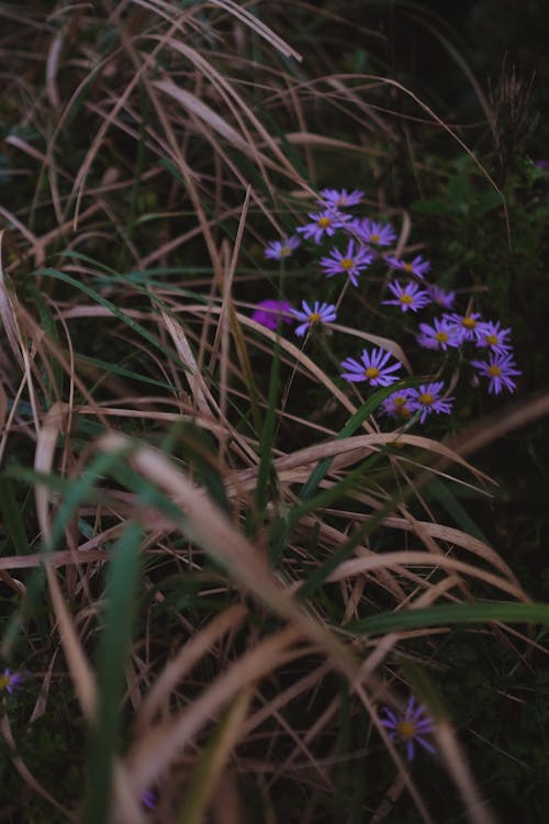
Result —
M413 248L386 99L434 114L330 66L313 45L345 22L288 5L0 10L7 820L404 821L403 793L414 821L495 820L437 656L549 623L458 500L490 495L463 455L547 404L448 442L382 432L386 390L251 320L311 288L262 247L334 166ZM410 691L437 787L381 724Z

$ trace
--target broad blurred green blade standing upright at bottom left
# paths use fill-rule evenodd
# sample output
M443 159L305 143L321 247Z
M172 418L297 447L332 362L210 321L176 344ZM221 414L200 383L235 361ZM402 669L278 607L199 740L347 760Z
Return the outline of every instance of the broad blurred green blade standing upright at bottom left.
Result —
M130 523L109 566L103 632L98 649L98 713L88 741L83 824L110 821L114 757L119 746L124 667L130 655L139 571L142 530Z

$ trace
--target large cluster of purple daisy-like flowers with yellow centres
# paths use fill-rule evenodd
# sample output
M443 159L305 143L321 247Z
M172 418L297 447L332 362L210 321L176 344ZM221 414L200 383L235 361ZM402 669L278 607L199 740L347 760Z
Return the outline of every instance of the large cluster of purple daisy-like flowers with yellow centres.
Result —
M381 260L401 277L404 275L404 280L396 277L388 283L390 296L381 301L383 305L396 307L410 315L427 307L444 312L440 316L432 316L430 322L422 321L418 324L417 345L444 353L472 345L478 356L470 359L470 364L480 377L488 379L489 392L498 394L504 389L513 392L516 386L514 378L520 371L513 359L511 330L504 329L500 321L482 320L478 312L456 312L456 293L426 281L425 276L432 265L422 255L403 260L385 254L384 249L396 240L392 225L369 218L356 218L344 211L359 204L363 197L359 189L323 189L317 199L320 211L309 213L309 222L299 226L294 235L269 243L266 257L282 260L299 248L302 240L320 245L336 233L341 235L344 243L333 246L327 255L320 258L318 266L325 277L344 275L352 286L358 287L359 277L376 260ZM303 300L301 309L293 309L287 301L265 300L257 305L251 318L273 331L295 320L298 325L294 332L303 337L334 322L336 315L334 304L318 300ZM484 359L481 358L482 352ZM358 360L349 357L341 361L341 377L348 382L388 387L399 380L400 376L395 372L401 366L400 361L392 359L391 353L382 348L362 349ZM383 402L381 411L401 421L415 415L424 423L432 413L449 414L453 400L445 394L442 381L434 381L417 389L394 392Z

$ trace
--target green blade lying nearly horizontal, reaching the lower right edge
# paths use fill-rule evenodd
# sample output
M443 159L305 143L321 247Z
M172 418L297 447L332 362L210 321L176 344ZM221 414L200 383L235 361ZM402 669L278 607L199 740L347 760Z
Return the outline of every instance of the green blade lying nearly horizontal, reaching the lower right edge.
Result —
M542 624L549 626L549 604L477 601L463 604L436 604L403 612L382 612L346 625L344 634L384 635L388 632L417 630L440 624L484 624L486 622Z

